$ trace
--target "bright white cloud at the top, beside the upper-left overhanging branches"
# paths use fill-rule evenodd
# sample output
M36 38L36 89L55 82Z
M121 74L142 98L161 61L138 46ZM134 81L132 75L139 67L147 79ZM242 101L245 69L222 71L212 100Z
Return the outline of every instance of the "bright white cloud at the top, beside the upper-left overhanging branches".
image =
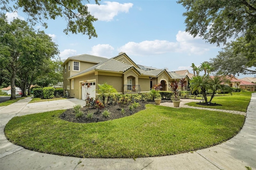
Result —
M132 3L120 4L118 2L109 1L103 3L106 5L87 4L90 13L100 21L111 21L118 15L118 13L129 12L129 9L133 6Z

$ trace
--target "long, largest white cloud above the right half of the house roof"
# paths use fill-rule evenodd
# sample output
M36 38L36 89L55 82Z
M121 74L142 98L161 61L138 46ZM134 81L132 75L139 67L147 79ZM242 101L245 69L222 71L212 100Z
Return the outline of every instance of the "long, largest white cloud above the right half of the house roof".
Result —
M215 45L205 43L205 40L202 40L200 37L193 38L193 36L187 32L179 31L178 34L176 34L176 42L166 40L143 41L139 43L128 42L118 48L118 51L140 56L171 52L202 55L209 51L210 48L215 47Z

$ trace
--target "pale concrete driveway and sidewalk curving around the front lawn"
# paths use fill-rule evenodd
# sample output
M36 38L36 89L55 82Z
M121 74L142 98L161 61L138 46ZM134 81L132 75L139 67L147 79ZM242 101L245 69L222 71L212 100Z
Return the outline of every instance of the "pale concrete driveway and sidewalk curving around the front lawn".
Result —
M244 127L234 138L193 153L137 158L136 160L74 158L43 154L10 143L4 136L4 127L12 117L68 109L76 104L84 105L84 101L77 99L28 104L30 100L31 98L28 97L12 105L0 107L0 170L245 170L245 166L256 169L256 93L252 94ZM184 103L185 101L180 107L188 107ZM162 103L161 105L172 107L170 103ZM244 115L245 113L237 114Z

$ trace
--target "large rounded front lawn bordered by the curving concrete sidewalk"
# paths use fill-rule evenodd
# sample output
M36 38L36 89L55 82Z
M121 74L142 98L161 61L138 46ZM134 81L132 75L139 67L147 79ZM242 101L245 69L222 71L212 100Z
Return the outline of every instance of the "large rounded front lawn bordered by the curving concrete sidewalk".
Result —
M226 141L240 131L245 120L230 113L146 105L146 110L129 117L80 124L61 120L63 112L14 117L4 129L6 138L26 149L63 156L165 156Z

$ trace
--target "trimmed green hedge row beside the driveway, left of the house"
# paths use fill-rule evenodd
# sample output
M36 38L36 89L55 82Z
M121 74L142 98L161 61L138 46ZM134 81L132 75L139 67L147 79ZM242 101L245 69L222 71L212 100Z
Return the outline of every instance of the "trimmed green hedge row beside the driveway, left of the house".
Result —
M34 97L43 99L52 99L54 96L63 96L63 89L54 89L53 87L44 87L33 89Z

